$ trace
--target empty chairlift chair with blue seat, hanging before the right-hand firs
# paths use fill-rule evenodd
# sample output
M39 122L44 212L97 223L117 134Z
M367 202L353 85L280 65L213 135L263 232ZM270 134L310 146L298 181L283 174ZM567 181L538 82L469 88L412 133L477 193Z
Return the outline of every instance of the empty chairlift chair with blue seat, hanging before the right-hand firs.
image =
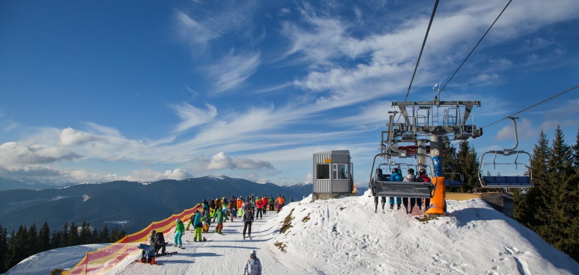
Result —
M516 121L515 118L513 116L509 117L512 120L514 129L515 129L515 146L512 149L503 149L503 151L488 151L482 154L481 156L481 163L479 164L479 173L478 173L478 179L479 182L481 182L481 186L482 187L486 187L486 188L532 188L533 185L533 171L532 168L530 167L530 163L532 162L532 156L525 152L525 151L515 151L515 149L518 147L519 145L519 138L518 138L518 134L516 132ZM489 154L494 154L494 159L493 162L484 162L484 158L485 155L489 155ZM511 155L516 155L515 157L515 161L514 163L497 163L497 156L503 157L503 156L511 156ZM517 160L519 159L519 155L526 155L529 157L529 166L527 166L526 164L521 164L518 163ZM518 168L518 166L520 165L524 165L527 169L526 171L526 175L522 175L522 176L492 176L492 175L483 175L483 168L486 165L492 165L494 170L496 169L497 165L500 166L504 166L504 165L509 165L509 166L515 166L515 169Z

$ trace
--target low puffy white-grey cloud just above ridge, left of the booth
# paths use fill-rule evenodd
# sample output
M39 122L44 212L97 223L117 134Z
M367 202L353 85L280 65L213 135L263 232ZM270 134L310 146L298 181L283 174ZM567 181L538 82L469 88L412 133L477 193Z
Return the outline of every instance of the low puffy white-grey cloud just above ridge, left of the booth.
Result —
M240 169L240 170L260 170L260 169L274 169L270 162L259 159L249 159L247 157L229 157L223 152L219 152L214 156L200 156L195 160L194 170L209 171L209 170L224 170L224 169Z

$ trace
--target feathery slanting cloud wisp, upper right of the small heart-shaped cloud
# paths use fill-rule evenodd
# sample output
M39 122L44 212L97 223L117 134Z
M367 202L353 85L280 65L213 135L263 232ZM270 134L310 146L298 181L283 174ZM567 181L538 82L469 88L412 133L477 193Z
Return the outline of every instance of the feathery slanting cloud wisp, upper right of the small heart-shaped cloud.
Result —
M212 93L223 93L239 87L255 73L261 64L260 56L260 52L234 54L232 50L228 56L210 65L208 74L214 83Z

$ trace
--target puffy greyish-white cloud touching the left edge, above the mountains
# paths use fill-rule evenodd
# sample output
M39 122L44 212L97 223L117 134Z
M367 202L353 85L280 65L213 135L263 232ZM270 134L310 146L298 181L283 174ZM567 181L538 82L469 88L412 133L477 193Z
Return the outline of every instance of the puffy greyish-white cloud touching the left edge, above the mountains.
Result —
M0 165L40 164L81 157L68 149L38 144L25 145L19 142L6 142L0 145Z

